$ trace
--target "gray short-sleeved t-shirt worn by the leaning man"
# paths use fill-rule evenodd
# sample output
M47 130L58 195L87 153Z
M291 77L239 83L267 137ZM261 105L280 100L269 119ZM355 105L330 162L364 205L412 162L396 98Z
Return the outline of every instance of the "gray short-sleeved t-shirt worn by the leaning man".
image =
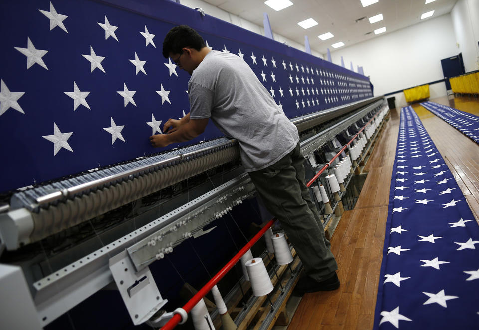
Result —
M247 172L273 165L294 149L298 130L239 56L210 51L188 83L190 119L210 118L238 140Z

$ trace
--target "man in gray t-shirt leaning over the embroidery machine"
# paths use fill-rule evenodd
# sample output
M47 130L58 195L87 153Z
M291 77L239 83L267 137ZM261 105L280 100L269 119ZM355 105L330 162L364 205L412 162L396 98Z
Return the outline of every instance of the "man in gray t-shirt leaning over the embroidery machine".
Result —
M225 135L238 140L244 169L304 265L308 276L296 291L337 289L338 267L305 183L296 127L244 60L210 50L192 28L172 28L163 41L163 56L191 75L190 113L169 119L164 125L168 134L151 136L151 145L191 140L203 133L211 118Z

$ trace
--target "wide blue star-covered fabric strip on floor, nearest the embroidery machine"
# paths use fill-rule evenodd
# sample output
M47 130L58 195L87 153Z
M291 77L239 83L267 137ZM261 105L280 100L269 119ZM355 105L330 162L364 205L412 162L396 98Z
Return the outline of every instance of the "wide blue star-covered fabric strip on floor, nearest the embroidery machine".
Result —
M452 173L402 108L374 329L479 329L478 243Z

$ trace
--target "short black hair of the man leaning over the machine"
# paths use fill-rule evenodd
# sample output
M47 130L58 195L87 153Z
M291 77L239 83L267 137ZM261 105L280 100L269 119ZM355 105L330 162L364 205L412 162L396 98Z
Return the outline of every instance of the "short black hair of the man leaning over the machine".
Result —
M200 51L205 46L205 41L198 32L188 25L178 25L172 28L163 40L163 56L167 58L170 53L180 54L185 47Z

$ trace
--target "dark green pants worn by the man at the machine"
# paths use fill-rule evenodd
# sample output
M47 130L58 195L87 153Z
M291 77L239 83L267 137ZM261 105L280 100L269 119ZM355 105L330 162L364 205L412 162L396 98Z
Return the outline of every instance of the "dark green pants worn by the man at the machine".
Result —
M299 143L289 154L262 170L249 172L267 210L281 223L301 259L306 274L317 281L338 269L324 235L316 206L304 177Z

